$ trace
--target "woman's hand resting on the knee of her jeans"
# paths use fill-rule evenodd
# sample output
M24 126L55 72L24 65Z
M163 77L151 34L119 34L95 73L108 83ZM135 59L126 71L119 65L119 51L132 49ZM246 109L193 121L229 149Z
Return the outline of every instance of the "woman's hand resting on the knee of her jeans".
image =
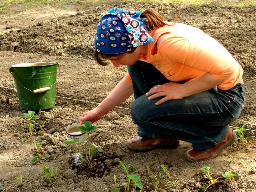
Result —
M156 105L160 105L167 100L178 100L185 97L183 93L183 84L179 83L165 83L163 85L156 85L149 92L146 93L148 100L155 99L157 97L164 97L156 102Z

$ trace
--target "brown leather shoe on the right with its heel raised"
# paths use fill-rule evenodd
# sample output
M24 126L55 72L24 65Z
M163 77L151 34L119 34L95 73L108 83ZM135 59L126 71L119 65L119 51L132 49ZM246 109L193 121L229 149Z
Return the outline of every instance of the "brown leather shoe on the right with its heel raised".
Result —
M233 129L230 127L228 128L228 133L224 137L220 143L210 149L206 149L203 151L196 151L194 149L189 149L186 153L186 158L190 162L195 162L195 161L204 161L207 159L212 159L220 153L223 149L227 148L228 146L232 145L236 141L236 133Z

